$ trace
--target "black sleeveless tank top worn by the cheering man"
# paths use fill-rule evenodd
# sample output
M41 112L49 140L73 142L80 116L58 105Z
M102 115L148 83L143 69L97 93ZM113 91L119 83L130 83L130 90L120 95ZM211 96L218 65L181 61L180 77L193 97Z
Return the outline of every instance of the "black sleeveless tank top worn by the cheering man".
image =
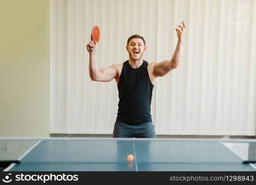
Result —
M117 84L119 103L117 121L128 125L151 122L151 99L154 85L147 72L147 62L131 68L128 60L123 63Z

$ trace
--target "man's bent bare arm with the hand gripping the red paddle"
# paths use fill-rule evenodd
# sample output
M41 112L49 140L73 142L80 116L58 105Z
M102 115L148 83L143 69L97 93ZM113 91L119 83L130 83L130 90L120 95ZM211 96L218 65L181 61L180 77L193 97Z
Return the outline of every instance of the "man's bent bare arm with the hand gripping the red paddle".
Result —
M93 47L93 51L91 51ZM111 81L117 76L117 70L115 64L110 67L103 68L99 70L96 62L96 51L97 51L97 42L90 41L86 46L87 51L89 52L89 75L93 81Z

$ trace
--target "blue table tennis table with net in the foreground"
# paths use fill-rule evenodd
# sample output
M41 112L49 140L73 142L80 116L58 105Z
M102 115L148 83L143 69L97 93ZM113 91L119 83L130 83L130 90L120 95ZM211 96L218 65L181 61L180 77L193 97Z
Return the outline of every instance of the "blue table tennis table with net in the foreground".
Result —
M4 171L256 171L255 164L243 163L246 159L233 151L255 143L256 139L2 138L0 161L19 161ZM133 162L127 162L128 154L134 155Z

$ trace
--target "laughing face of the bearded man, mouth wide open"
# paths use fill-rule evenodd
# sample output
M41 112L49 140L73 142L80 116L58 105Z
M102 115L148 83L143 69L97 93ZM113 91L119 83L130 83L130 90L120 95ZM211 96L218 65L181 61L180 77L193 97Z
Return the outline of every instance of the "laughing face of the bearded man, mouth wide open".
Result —
M143 40L141 38L133 38L129 41L126 50L129 53L130 59L139 60L142 58L144 51L147 49L144 46Z

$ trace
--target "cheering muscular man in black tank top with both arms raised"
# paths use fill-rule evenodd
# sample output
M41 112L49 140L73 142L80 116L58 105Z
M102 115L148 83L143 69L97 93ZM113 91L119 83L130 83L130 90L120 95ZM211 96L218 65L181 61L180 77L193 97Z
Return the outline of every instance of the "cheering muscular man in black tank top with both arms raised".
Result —
M89 52L89 75L94 81L115 79L119 92L117 120L114 138L155 138L151 118L151 99L155 81L175 69L181 58L185 22L175 28L178 43L171 60L148 64L142 59L146 51L144 38L133 35L128 38L126 51L129 60L99 70L96 62L97 42L90 41L86 46ZM93 51L91 51L93 47Z

